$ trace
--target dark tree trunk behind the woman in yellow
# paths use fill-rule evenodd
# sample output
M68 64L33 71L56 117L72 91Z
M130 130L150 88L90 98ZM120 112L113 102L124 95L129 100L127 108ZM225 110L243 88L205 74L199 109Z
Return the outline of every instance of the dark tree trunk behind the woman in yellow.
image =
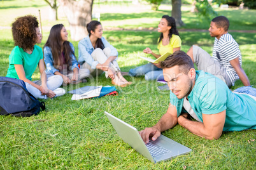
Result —
M181 21L181 0L171 0L171 4L173 6L171 16L175 19L176 26L181 27L185 25L185 23Z

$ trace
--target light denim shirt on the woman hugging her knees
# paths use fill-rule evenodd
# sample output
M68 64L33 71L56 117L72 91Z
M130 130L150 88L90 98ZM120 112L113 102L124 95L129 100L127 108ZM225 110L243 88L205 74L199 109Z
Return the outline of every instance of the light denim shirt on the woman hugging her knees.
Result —
M111 53L110 56L118 56L117 49L111 46L111 44L104 39L104 37L101 37L101 41L103 41L105 48L110 48ZM94 51L94 47L92 46L92 42L90 42L89 35L79 41L78 43L78 63L87 62L92 69L96 69L96 65L99 63L97 61L94 61L91 54ZM115 58L117 60L117 58Z

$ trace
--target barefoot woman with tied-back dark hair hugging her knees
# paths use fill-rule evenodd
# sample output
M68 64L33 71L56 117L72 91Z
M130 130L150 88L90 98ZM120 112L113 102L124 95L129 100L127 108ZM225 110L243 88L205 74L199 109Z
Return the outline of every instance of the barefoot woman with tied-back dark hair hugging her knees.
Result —
M106 78L112 79L112 84L125 87L128 82L121 74L117 64L118 52L111 44L102 37L103 27L98 21L87 24L88 36L78 43L78 62L81 68L90 70L92 76L106 72Z

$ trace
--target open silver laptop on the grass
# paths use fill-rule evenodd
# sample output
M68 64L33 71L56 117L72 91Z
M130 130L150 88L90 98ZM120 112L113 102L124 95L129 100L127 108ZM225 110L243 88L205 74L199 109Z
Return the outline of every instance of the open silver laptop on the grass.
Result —
M150 140L150 142L145 145L136 128L108 112L104 113L120 138L153 163L173 159L178 155L184 155L191 152L190 148L187 148L162 134L157 140Z

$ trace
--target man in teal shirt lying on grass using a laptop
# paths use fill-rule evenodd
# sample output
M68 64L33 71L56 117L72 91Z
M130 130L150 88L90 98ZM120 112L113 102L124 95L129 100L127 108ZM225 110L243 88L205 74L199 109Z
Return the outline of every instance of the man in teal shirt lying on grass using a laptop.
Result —
M209 140L220 138L222 131L256 129L255 93L233 93L214 75L196 71L190 56L183 51L167 57L161 67L171 90L169 108L155 126L139 132L145 143L149 136L156 140L160 132L173 128L177 122ZM188 114L197 121L187 119Z

